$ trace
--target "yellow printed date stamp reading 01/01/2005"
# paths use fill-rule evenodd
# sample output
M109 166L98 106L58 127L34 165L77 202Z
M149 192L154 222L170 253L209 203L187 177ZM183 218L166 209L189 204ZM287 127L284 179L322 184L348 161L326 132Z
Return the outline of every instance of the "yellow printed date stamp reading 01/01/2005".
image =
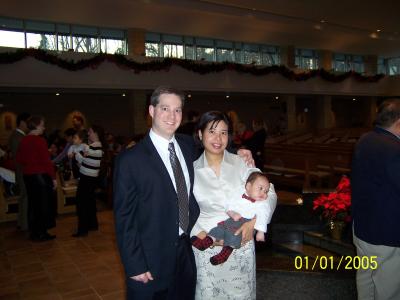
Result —
M377 256L296 256L294 267L297 270L376 270L378 268Z

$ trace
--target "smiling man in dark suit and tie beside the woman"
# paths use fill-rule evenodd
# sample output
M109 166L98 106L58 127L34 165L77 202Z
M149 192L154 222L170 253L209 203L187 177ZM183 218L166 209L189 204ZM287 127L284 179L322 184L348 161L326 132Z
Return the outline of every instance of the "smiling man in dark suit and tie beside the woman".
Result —
M175 135L183 101L181 92L157 88L149 106L150 132L117 158L114 213L128 299L194 299L196 265L188 233L199 207L192 192L193 139Z

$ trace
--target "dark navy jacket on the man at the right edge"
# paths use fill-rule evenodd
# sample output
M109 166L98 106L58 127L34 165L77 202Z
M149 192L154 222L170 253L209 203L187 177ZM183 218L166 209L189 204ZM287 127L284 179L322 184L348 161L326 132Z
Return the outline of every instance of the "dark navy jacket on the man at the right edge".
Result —
M355 235L370 244L400 246L400 139L375 128L359 140L352 171Z

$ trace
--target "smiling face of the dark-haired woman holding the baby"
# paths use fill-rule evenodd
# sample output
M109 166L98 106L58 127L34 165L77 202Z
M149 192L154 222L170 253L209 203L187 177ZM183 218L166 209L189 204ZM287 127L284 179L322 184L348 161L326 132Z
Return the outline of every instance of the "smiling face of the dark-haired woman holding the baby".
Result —
M228 145L228 125L224 121L211 121L203 132L199 131L199 138L206 152L222 155Z

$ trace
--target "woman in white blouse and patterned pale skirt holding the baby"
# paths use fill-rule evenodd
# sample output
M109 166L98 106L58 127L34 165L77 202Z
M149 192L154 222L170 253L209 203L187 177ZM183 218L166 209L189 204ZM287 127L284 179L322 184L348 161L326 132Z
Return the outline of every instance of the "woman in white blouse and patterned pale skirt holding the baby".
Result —
M200 216L191 236L204 238L211 228L227 218L226 206L235 189L244 185L248 175L258 169L247 167L239 156L225 150L231 131L225 114L217 111L205 113L200 118L198 128L204 152L194 162L193 193L200 206ZM267 199L271 212L275 209L276 199L271 184ZM229 260L221 265L213 266L210 263L210 257L219 253L220 247L205 251L193 247L197 266L196 299L256 298L254 223L255 219L239 229L243 245L235 249Z

